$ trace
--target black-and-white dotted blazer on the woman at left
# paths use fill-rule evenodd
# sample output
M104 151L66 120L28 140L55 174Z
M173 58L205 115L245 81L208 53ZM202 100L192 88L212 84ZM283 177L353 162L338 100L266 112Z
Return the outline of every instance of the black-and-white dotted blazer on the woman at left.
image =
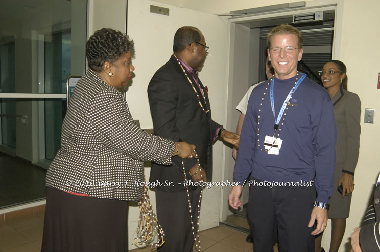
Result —
M171 165L175 143L139 129L122 94L88 70L62 125L61 149L46 186L92 197L138 201L143 161Z

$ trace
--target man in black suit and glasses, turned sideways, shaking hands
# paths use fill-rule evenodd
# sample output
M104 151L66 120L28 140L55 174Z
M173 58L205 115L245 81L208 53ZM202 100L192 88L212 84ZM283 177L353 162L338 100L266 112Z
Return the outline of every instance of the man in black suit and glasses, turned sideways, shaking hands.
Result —
M224 130L211 119L207 89L198 78L207 49L199 29L179 28L174 35L174 54L157 70L148 86L155 135L187 141L197 146L198 153L198 159L187 158L183 163L173 157L171 166L152 164L150 181L161 182L156 187L157 217L165 232L160 251L192 251L194 244L201 186L190 184L188 197L183 170L193 182L211 180L213 141L220 136L232 144L239 142L239 135Z

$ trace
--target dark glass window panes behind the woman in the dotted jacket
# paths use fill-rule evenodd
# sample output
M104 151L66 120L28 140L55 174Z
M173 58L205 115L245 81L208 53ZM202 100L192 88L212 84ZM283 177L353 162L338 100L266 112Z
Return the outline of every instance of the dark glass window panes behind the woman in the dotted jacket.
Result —
M0 94L65 94L85 73L86 21L87 0L0 1ZM0 98L0 208L45 197L65 113L62 98Z

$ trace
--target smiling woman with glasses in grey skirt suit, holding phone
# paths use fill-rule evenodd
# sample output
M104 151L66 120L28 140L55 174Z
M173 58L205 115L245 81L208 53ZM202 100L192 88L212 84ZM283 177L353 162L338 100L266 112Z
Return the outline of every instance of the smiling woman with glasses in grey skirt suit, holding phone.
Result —
M351 193L354 190L354 171L359 157L360 114L359 96L347 91L346 66L339 60L324 64L322 83L333 99L335 123L337 125L336 165L334 191L329 200L328 218L331 219L330 252L338 251L350 213ZM341 193L337 187L342 186ZM322 235L316 238L315 251L321 248Z

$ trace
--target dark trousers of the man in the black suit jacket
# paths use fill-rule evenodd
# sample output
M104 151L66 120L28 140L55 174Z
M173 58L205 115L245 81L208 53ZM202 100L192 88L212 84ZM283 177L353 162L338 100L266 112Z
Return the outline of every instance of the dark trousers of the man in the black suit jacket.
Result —
M190 191L194 233L197 231L198 200L201 187ZM165 243L160 252L191 252L192 233L188 197L186 192L164 192L156 190L157 218L165 233Z

